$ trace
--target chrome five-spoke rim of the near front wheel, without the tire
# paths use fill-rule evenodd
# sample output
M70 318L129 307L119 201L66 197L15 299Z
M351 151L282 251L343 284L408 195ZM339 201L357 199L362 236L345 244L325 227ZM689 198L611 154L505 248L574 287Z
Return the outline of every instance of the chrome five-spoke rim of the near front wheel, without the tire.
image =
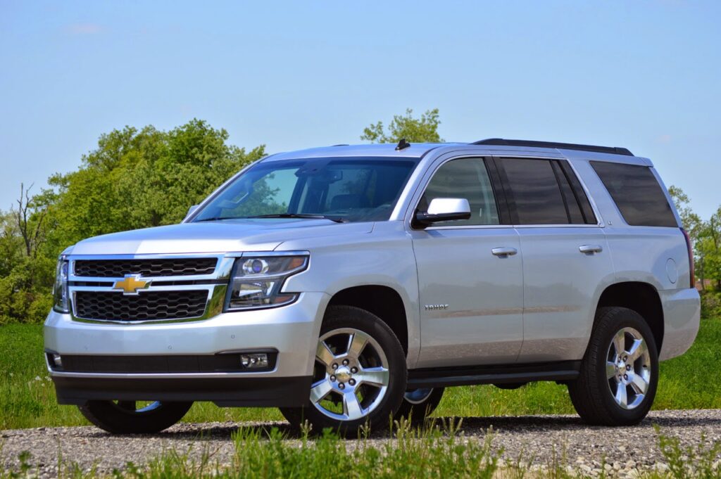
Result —
M355 421L379 406L388 389L388 359L378 341L355 328L318 340L311 403L324 416Z

